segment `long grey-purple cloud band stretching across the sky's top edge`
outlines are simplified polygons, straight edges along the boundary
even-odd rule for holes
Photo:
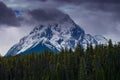
[[[81,5],[81,4],[120,4],[120,0],[3,0],[7,6],[13,9],[37,9],[42,7],[58,8],[66,5]],[[114,8],[115,9],[115,8]]]

